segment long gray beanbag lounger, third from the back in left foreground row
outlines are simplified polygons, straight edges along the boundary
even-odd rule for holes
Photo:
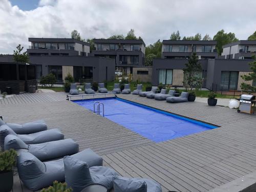
[[[7,135],[5,138],[5,150],[13,148],[18,153],[29,152],[40,161],[55,159],[66,155],[78,153],[79,146],[72,139],[50,141],[40,144],[26,144],[15,135]]]

